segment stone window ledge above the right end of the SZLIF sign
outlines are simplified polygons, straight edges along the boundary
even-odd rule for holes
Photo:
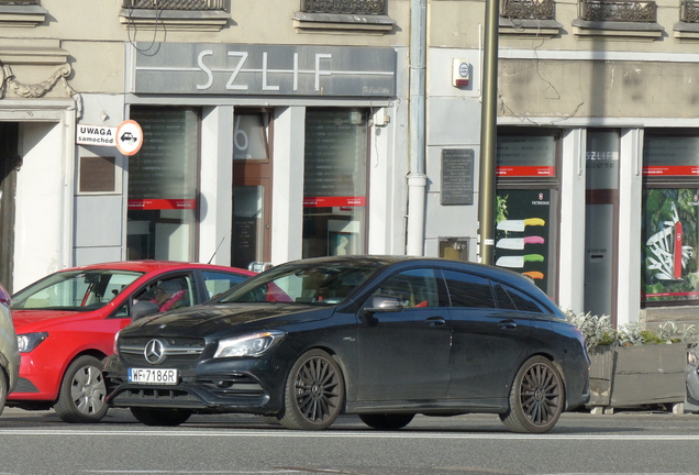
[[[387,15],[296,12],[292,19],[293,27],[302,33],[386,34],[396,25],[396,21]]]

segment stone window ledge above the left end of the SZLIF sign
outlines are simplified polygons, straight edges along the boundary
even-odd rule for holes
[[[178,31],[221,31],[228,25],[230,15],[224,11],[212,10],[143,10],[122,9],[120,21],[126,29],[136,30],[178,30]]]

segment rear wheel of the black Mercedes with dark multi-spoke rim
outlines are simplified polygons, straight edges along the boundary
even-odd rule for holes
[[[561,373],[543,357],[528,360],[514,376],[510,391],[510,409],[500,420],[513,432],[548,432],[565,407]]]

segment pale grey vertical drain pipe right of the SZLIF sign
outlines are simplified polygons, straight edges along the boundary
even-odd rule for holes
[[[426,0],[410,0],[410,173],[408,174],[408,227],[406,252],[424,255],[425,195],[425,69]]]

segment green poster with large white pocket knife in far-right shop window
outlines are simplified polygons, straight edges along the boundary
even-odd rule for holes
[[[644,300],[699,299],[699,189],[646,189],[644,202]]]

